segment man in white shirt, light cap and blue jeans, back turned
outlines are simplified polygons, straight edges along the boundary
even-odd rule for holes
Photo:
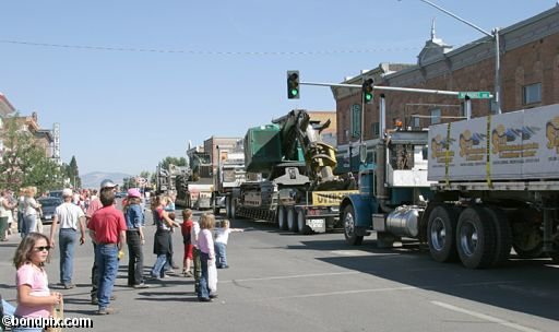
[[[55,235],[60,223],[58,246],[60,247],[60,284],[64,289],[75,287],[72,283],[74,271],[74,252],[80,227],[80,246],[85,244],[85,214],[83,210],[72,203],[72,189],[62,190],[64,202],[57,206],[52,226],[50,227],[50,245],[55,248]]]

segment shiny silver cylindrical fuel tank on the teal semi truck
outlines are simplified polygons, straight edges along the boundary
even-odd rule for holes
[[[396,208],[386,215],[386,230],[403,237],[415,238],[419,234],[419,215],[424,209],[415,205]]]

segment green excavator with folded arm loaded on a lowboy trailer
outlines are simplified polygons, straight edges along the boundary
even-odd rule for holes
[[[324,233],[338,222],[341,199],[356,192],[352,177],[334,175],[335,149],[320,139],[330,121],[302,109],[245,137],[247,180],[230,195],[230,214],[277,222],[281,229]]]

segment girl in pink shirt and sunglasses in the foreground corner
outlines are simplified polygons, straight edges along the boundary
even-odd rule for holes
[[[39,233],[29,233],[22,239],[13,264],[17,270],[17,308],[16,317],[48,318],[52,307],[60,304],[62,295],[50,293],[48,288],[47,272],[44,269],[50,250],[48,238]],[[13,331],[43,331],[37,329],[13,329]]]

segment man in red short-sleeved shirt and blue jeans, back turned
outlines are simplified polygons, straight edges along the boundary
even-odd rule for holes
[[[103,208],[95,211],[87,224],[90,236],[95,242],[95,264],[98,269],[97,315],[115,313],[109,307],[110,295],[118,272],[118,253],[127,241],[127,222],[122,211],[115,208],[115,191],[102,190],[99,195]]]

